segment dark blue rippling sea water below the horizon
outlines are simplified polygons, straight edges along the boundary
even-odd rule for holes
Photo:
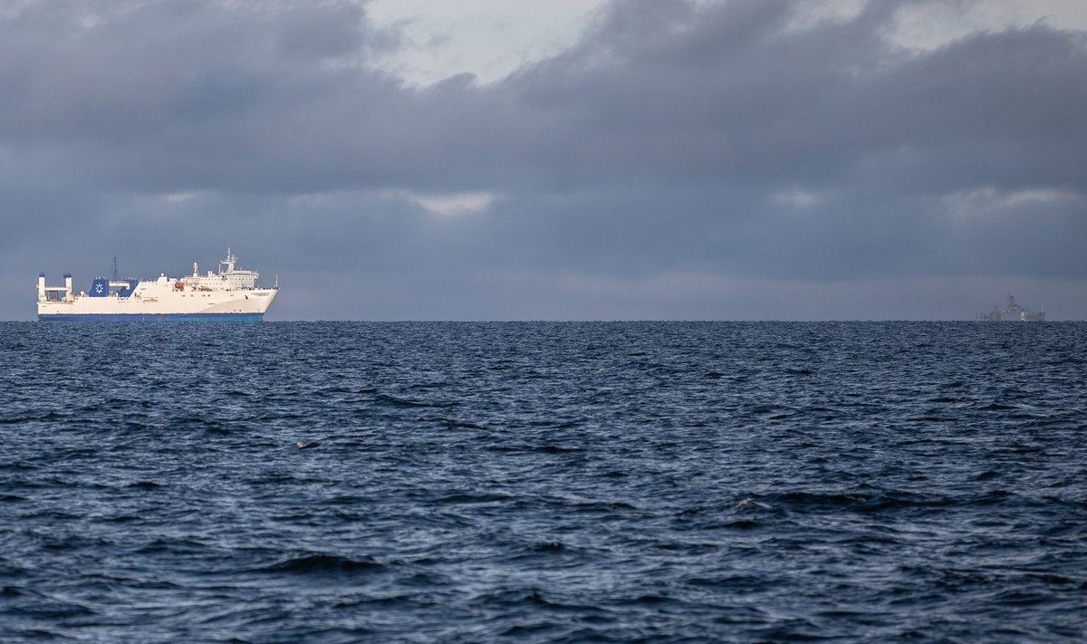
[[[1087,324],[0,324],[3,642],[1078,642]]]

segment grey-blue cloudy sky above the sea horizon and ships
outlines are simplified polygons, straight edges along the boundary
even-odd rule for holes
[[[229,246],[268,320],[1084,320],[1085,70],[1078,0],[4,0],[0,319]]]

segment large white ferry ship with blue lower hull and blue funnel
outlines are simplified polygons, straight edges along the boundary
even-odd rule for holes
[[[38,320],[234,320],[259,322],[279,292],[257,286],[257,271],[237,268],[238,258],[226,249],[218,272],[201,275],[196,262],[192,274],[153,280],[96,277],[90,292],[72,289],[72,274],[64,286],[46,286],[38,274]],[[278,281],[277,281],[278,282]]]

